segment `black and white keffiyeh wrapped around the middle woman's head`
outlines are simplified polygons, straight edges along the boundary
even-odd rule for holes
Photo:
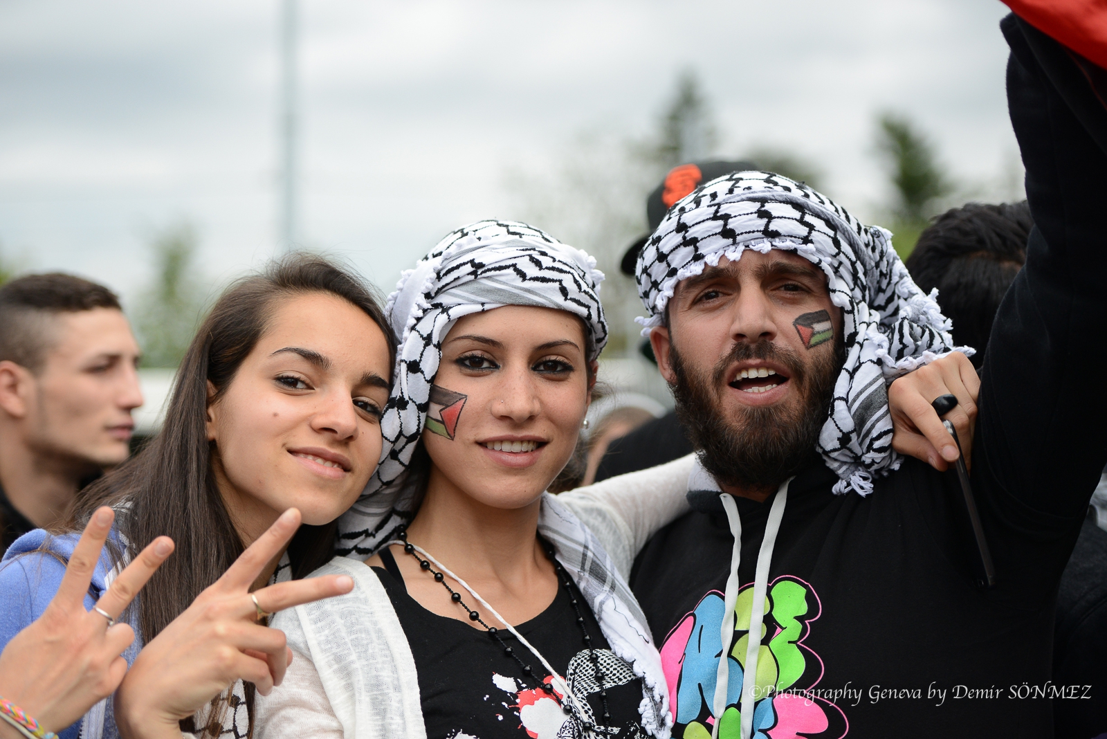
[[[400,346],[381,418],[381,464],[340,520],[340,554],[371,553],[401,522],[389,511],[410,493],[404,472],[423,434],[442,342],[454,322],[503,305],[569,311],[584,322],[591,362],[608,341],[599,298],[602,281],[593,257],[532,226],[499,220],[453,231],[403,273],[385,305]]]

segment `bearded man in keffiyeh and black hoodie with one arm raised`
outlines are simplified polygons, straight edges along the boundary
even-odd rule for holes
[[[1057,583],[1107,461],[1107,156],[1089,134],[1107,111],[1079,77],[1055,86],[1044,67],[1073,64],[1058,44],[1014,17],[1003,31],[1037,227],[979,381],[971,487],[994,583],[958,477],[891,448],[886,383],[953,346],[887,231],[745,171],[675,204],[639,257],[699,450],[693,511],[631,575],[674,737],[1044,737],[1058,690],[1107,689],[1048,684]]]

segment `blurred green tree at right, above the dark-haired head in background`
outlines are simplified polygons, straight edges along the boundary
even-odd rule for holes
[[[880,116],[877,150],[884,160],[892,190],[896,250],[906,259],[941,199],[953,192],[954,184],[939,163],[934,147],[903,115]]]

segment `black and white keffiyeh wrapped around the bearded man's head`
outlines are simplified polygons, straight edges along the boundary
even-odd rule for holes
[[[911,280],[891,233],[865,226],[830,198],[787,177],[739,171],[699,187],[673,205],[638,258],[638,292],[648,335],[662,324],[676,283],[734,261],[746,249],[795,251],[827,275],[841,309],[846,364],[818,450],[840,478],[836,493],[872,491],[872,473],[902,461],[892,450],[887,384],[952,351],[950,321]]]

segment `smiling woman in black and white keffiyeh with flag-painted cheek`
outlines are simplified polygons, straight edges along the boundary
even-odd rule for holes
[[[354,577],[346,603],[278,616],[331,710],[291,710],[304,680],[290,674],[259,708],[261,736],[668,736],[645,618],[581,507],[544,493],[607,342],[602,279],[584,252],[507,221],[454,231],[404,273],[381,465],[340,522],[340,552],[376,554],[328,565]],[[648,495],[668,501],[604,543],[637,549],[681,512],[689,468],[651,473]],[[335,665],[334,644],[358,659]]]

